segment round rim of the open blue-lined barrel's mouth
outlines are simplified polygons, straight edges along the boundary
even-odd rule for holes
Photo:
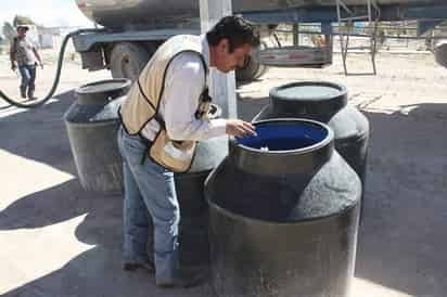
[[[238,140],[234,137],[230,138],[230,143],[232,143],[233,145],[247,151],[250,153],[261,153],[263,155],[280,155],[280,154],[306,154],[309,152],[314,152],[318,148],[322,148],[329,144],[331,144],[334,141],[334,131],[333,129],[328,126],[324,122],[321,121],[317,121],[317,120],[312,120],[312,119],[307,119],[307,118],[289,118],[289,117],[284,117],[284,118],[274,118],[274,119],[261,119],[261,120],[255,120],[252,124],[254,126],[258,125],[258,124],[264,124],[264,122],[280,122],[280,121],[288,121],[288,122],[307,122],[307,124],[312,124],[312,125],[317,125],[320,126],[322,128],[324,128],[328,131],[328,134],[319,142],[306,146],[306,147],[301,147],[301,148],[296,148],[296,150],[283,150],[283,151],[261,151],[259,148],[254,148],[244,144],[241,144],[238,142]]]

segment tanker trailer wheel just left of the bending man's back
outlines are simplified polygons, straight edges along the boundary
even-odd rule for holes
[[[148,61],[149,53],[142,46],[130,42],[118,43],[111,54],[112,77],[136,81]]]

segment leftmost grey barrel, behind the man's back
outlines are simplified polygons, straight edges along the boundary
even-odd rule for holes
[[[111,79],[75,90],[77,101],[64,119],[85,190],[111,193],[123,190],[123,163],[116,142],[117,111],[130,85],[128,79]]]

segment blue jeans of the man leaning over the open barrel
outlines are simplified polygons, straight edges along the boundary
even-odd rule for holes
[[[127,134],[123,127],[118,131],[118,146],[125,184],[124,259],[138,261],[148,258],[148,223],[152,218],[155,277],[157,282],[170,282],[179,269],[180,209],[174,173],[149,158],[141,164],[146,147],[138,135]]]

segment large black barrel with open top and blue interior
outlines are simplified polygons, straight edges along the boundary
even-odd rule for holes
[[[348,295],[361,182],[328,126],[265,120],[205,183],[218,296]]]

